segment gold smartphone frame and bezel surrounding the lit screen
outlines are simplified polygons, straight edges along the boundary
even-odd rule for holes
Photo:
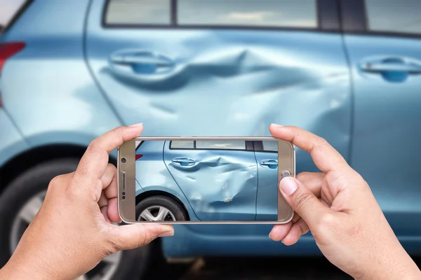
[[[204,140],[204,141],[278,141],[278,182],[282,178],[282,172],[290,172],[290,176],[295,177],[295,147],[289,141],[283,141],[274,137],[136,137],[135,139],[126,141],[118,148],[117,151],[117,188],[118,198],[117,204],[119,208],[119,216],[124,223],[159,223],[159,224],[284,224],[292,220],[294,211],[284,200],[281,192],[278,191],[278,221],[136,221],[135,220],[135,141],[183,141],[183,140]],[[288,150],[283,154],[279,151]],[[286,160],[285,156],[288,153],[289,158]],[[281,158],[281,156],[283,158]],[[122,163],[121,158],[126,158],[126,162]],[[292,164],[292,165],[291,165]],[[283,166],[284,168],[279,168]],[[123,181],[125,186],[123,190]],[[123,191],[126,194],[126,199],[122,199]]]

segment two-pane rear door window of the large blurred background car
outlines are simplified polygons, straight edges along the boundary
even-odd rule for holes
[[[175,25],[317,27],[316,0],[178,0]],[[105,25],[171,25],[171,0],[109,0]]]

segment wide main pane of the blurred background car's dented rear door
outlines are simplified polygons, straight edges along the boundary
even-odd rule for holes
[[[178,25],[317,27],[316,0],[178,0]]]

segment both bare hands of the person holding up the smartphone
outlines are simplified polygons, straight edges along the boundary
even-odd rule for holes
[[[142,128],[107,132],[89,145],[76,172],[51,181],[0,279],[74,279],[111,253],[173,235],[171,225],[113,224],[121,220],[109,152]],[[421,279],[368,184],[338,151],[298,127],[271,125],[270,132],[309,152],[321,170],[281,180],[280,191],[295,215],[292,222],[275,225],[270,238],[292,245],[310,230],[323,255],[355,279]]]

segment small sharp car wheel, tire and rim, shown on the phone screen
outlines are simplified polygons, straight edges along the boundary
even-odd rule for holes
[[[136,205],[138,221],[188,221],[182,205],[163,195],[147,197]]]

